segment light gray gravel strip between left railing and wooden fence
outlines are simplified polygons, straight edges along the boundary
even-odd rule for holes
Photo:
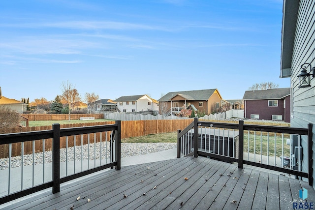
[[[107,145],[106,145],[107,144]],[[159,152],[163,150],[170,150],[177,147],[177,143],[122,143],[121,144],[121,157],[129,157],[129,156],[137,156],[143,154],[149,154],[154,152]],[[102,152],[100,152],[100,149]],[[106,153],[107,151],[107,153]],[[87,160],[90,156],[90,160],[94,160],[94,154],[96,159],[99,159],[100,154],[102,155],[102,159],[110,157],[110,143],[109,142],[102,142],[102,146],[100,147],[99,143],[76,146],[75,151],[74,147],[68,148],[67,152],[66,149],[60,150],[60,161],[65,162],[66,160],[66,153],[68,161],[81,160],[81,153],[83,152],[83,160]],[[52,151],[45,151],[45,163],[52,162]],[[32,154],[26,154],[23,156],[24,165],[32,165],[33,164],[33,156]],[[15,156],[11,158],[11,167],[20,167],[22,163],[21,156]],[[37,152],[34,154],[34,163],[35,164],[42,164],[43,163],[43,152]],[[0,159],[0,170],[9,168],[9,158],[1,158]]]

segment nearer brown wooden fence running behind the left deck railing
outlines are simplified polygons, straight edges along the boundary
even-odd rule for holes
[[[178,129],[184,129],[187,127],[193,119],[189,120],[137,120],[137,121],[122,121],[121,122],[121,138],[129,138],[135,136],[144,136],[148,134],[156,133],[166,133],[175,132]],[[104,121],[104,122],[91,122],[91,123],[75,123],[75,124],[62,124],[61,128],[70,127],[83,127],[83,126],[97,126],[104,124],[114,124],[115,121]],[[30,131],[40,131],[40,130],[51,130],[50,126],[37,126],[37,127],[18,127],[12,129],[0,129],[0,134],[2,133],[20,133],[20,132],[30,132]],[[106,135],[107,133],[107,135]],[[88,138],[90,135],[90,138]],[[84,134],[82,135],[83,145],[88,144],[88,139],[90,143],[100,142],[100,136],[103,141],[110,140],[110,132],[102,132],[95,134]],[[107,136],[107,139],[105,139]],[[81,145],[81,135],[75,136],[76,145]],[[73,147],[74,136],[68,137],[68,147]],[[66,147],[66,137],[60,138],[60,148]],[[43,141],[36,140],[34,145],[35,152],[43,151]],[[52,150],[52,139],[45,140],[45,150]],[[24,154],[32,154],[32,142],[24,143]],[[12,156],[21,155],[21,143],[12,144]],[[9,145],[0,145],[0,158],[9,156]]]

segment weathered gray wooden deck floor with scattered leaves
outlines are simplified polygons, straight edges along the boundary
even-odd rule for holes
[[[306,201],[299,198],[302,187],[308,189]],[[5,209],[293,209],[293,202],[315,202],[314,189],[286,176],[184,157],[90,175],[62,185],[59,193],[44,192]]]

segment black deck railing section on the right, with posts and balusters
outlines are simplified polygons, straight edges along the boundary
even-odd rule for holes
[[[308,128],[198,121],[178,130],[177,157],[209,156],[308,178],[313,184],[312,124]],[[195,129],[196,128],[196,129]],[[303,158],[302,138],[305,136]],[[198,150],[194,150],[198,148]],[[308,172],[301,171],[301,161]]]

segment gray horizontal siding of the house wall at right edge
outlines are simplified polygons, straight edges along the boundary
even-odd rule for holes
[[[285,3],[290,3],[285,0]],[[287,14],[288,15],[288,14]],[[286,20],[284,16],[284,21]],[[283,25],[284,27],[284,25]],[[283,36],[285,36],[283,28]],[[285,45],[285,43],[282,43]],[[282,57],[282,60],[286,58]],[[313,159],[315,158],[315,78],[311,77],[311,87],[298,88],[297,75],[301,72],[303,63],[311,63],[315,66],[315,0],[300,0],[295,38],[293,43],[293,56],[291,60],[291,97],[292,113],[291,126],[307,128],[309,123],[313,123]],[[308,153],[307,137],[302,136],[303,150],[302,171],[307,172]],[[313,162],[313,169],[315,161]],[[315,173],[313,173],[315,179]],[[315,182],[313,183],[315,188]]]

